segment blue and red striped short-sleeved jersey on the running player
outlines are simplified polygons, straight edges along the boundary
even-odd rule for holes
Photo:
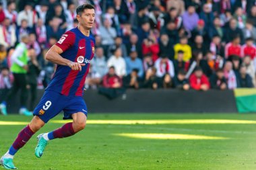
[[[78,28],[65,32],[55,44],[63,50],[61,56],[73,62],[85,63],[82,71],[73,71],[70,67],[57,65],[55,74],[46,90],[56,91],[67,96],[82,96],[84,83],[94,57],[95,39],[85,36]]]

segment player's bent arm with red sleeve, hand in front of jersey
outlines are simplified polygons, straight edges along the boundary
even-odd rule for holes
[[[57,65],[64,65],[70,67],[72,70],[82,71],[82,67],[85,64],[80,64],[78,62],[73,62],[71,60],[67,60],[63,58],[60,54],[65,50],[73,46],[75,42],[75,36],[72,32],[66,32],[61,36],[61,39],[57,42],[57,44],[53,45],[50,50],[46,53],[45,58]]]

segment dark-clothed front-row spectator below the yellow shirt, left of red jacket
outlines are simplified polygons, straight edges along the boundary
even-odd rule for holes
[[[183,89],[185,91],[189,90],[189,80],[186,79],[186,72],[183,69],[179,70],[177,75],[174,77],[173,86],[176,89]]]

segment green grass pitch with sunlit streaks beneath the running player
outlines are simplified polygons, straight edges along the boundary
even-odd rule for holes
[[[36,136],[61,126],[57,116],[15,155],[15,166],[20,170],[256,169],[256,114],[90,114],[89,118],[85,130],[51,140],[37,159]],[[0,116],[1,155],[30,119]]]

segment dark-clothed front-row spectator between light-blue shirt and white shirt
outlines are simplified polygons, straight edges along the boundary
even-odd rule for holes
[[[156,76],[156,68],[152,67],[146,72],[143,87],[151,89],[159,89],[161,87],[161,79]]]

